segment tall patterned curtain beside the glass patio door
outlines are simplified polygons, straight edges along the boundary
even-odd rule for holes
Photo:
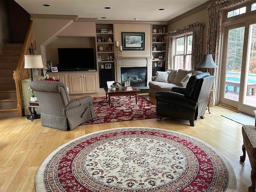
[[[221,11],[228,6],[232,6],[246,0],[217,0],[216,2],[208,5],[208,27],[206,37],[206,50],[212,54],[215,64],[219,65],[219,44],[220,44],[220,26],[221,26]],[[218,74],[218,68],[209,68],[209,73],[212,75]],[[217,76],[214,80],[214,90],[216,90]],[[216,92],[213,93],[213,104],[215,104]]]

